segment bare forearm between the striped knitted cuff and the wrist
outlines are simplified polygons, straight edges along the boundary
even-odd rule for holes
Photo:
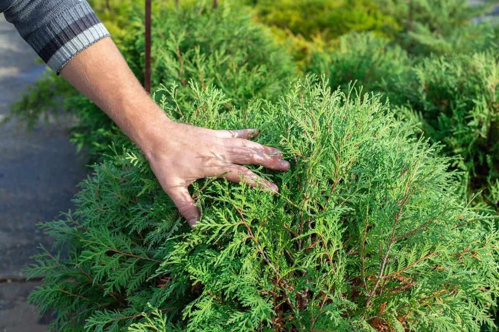
[[[150,155],[155,124],[169,119],[142,88],[111,38],[78,53],[60,74]]]

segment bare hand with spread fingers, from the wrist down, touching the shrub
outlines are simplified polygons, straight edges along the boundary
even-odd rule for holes
[[[289,163],[274,148],[249,141],[254,129],[211,130],[165,119],[154,125],[155,133],[144,149],[151,169],[165,192],[191,227],[200,215],[188,186],[200,178],[219,176],[276,193],[275,184],[242,165],[261,165],[287,170]],[[256,134],[256,133],[255,133]]]

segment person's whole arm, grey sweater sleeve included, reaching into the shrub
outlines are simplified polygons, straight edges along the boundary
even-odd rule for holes
[[[191,225],[199,211],[187,187],[198,178],[228,172],[226,178],[239,182],[243,173],[247,183],[277,190],[241,166],[287,169],[281,156],[268,156],[278,153],[275,149],[246,140],[250,129],[213,131],[170,121],[106,37],[107,30],[86,1],[0,0],[0,10],[55,73],[60,71],[137,144]]]

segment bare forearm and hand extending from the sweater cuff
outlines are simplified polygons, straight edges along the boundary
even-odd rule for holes
[[[144,152],[163,189],[191,226],[199,211],[187,188],[197,179],[227,172],[223,177],[230,181],[240,182],[242,175],[251,186],[276,192],[275,184],[242,165],[289,168],[288,162],[280,160],[280,151],[247,140],[252,129],[211,130],[168,119],[144,91],[111,38],[78,53],[60,74],[106,112]]]

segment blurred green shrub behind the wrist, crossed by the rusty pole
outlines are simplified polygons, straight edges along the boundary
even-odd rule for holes
[[[204,88],[214,84],[232,99],[231,108],[245,107],[253,98],[275,100],[284,82],[296,76],[289,55],[280,52],[268,29],[254,23],[246,9],[227,5],[213,10],[207,2],[155,16],[153,86],[176,81],[188,89],[190,79]],[[143,68],[143,25],[133,26],[128,58]]]

